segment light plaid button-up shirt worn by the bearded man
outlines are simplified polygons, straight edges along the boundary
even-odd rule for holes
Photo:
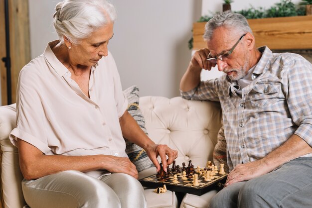
[[[259,50],[262,57],[242,96],[226,75],[181,92],[188,100],[220,102],[230,170],[265,157],[293,134],[312,146],[312,64],[298,54]]]

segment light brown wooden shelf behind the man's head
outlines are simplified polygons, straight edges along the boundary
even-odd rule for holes
[[[312,49],[312,15],[248,19],[256,46],[270,49]],[[193,24],[193,49],[207,47],[202,36],[206,22]]]

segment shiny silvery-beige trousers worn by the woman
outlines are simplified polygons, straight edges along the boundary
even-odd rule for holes
[[[146,208],[144,189],[130,175],[113,173],[100,180],[79,171],[64,171],[23,180],[30,208]]]

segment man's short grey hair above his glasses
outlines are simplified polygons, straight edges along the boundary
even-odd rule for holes
[[[230,29],[234,34],[240,33],[240,35],[242,35],[247,32],[252,33],[247,19],[243,15],[231,11],[225,11],[215,14],[206,23],[203,38],[205,40],[210,40],[214,30],[221,26]]]

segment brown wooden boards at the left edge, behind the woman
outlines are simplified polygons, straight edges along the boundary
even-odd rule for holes
[[[9,0],[9,36],[11,58],[11,91],[12,103],[16,100],[16,86],[20,70],[30,61],[30,36],[28,0]],[[4,32],[4,2],[0,0],[0,41],[5,46]],[[3,12],[1,12],[3,9]],[[3,17],[2,17],[3,16]],[[3,24],[2,24],[3,22]],[[4,53],[3,53],[3,51]],[[0,47],[0,57],[5,57],[5,47]],[[6,68],[0,64],[1,73],[1,100],[2,105],[7,104],[6,95]]]

